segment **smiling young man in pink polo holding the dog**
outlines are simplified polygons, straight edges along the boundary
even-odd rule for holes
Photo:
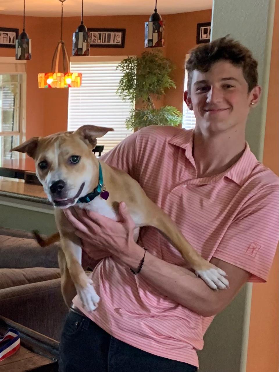
[[[84,250],[103,257],[92,274],[101,301],[86,312],[74,299],[61,337],[60,371],[197,371],[196,350],[215,314],[247,281],[265,282],[278,243],[279,181],[245,142],[260,97],[257,62],[228,38],[204,44],[187,62],[185,102],[194,130],[140,129],[103,156],[129,173],[202,256],[227,273],[213,291],[186,269],[152,227],[133,241],[133,221],[65,210]],[[143,249],[147,248],[145,250]],[[136,270],[145,253],[139,275]]]

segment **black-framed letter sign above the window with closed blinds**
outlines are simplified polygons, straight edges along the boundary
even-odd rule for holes
[[[93,48],[124,48],[125,46],[125,35],[126,35],[125,28],[88,28],[87,31],[90,33],[90,47],[93,47]],[[93,33],[95,35],[93,35]],[[120,36],[120,39],[119,39],[119,36]],[[114,38],[113,39],[114,42],[112,43],[108,42],[108,38],[110,38],[109,41],[111,41],[112,38]]]

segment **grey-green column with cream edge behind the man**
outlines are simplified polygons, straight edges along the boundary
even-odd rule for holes
[[[251,110],[246,140],[262,161],[275,0],[213,0],[211,39],[230,34],[258,61],[260,104]],[[252,284],[215,317],[199,352],[199,372],[246,372]]]

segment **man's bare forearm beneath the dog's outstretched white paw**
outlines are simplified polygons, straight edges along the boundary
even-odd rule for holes
[[[143,249],[136,245],[134,252],[137,253],[133,259],[127,258],[125,263],[136,268],[142,259]],[[139,275],[173,301],[199,315],[210,317],[222,311],[250,277],[247,271],[222,260],[213,257],[210,262],[227,273],[229,289],[214,291],[190,270],[165,262],[148,251]]]

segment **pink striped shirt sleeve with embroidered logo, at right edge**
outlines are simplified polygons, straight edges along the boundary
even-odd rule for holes
[[[228,227],[213,257],[251,273],[249,282],[266,282],[279,239],[279,187],[252,196]]]

